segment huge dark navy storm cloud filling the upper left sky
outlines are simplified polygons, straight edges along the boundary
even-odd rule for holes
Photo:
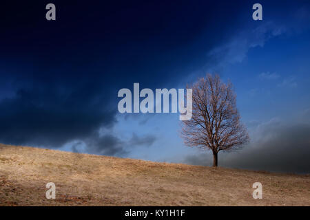
[[[0,5],[0,142],[50,148],[81,142],[109,155],[125,152],[116,134],[99,135],[116,122],[118,89],[134,82],[165,87],[196,68],[192,63],[204,63],[205,50],[224,32],[218,23],[227,22],[216,10],[238,11],[209,2],[55,1],[56,21],[49,22],[46,3]],[[198,37],[206,28],[214,33],[208,41]]]

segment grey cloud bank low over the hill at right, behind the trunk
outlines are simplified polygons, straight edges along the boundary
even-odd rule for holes
[[[251,135],[254,139],[240,151],[220,152],[219,166],[310,173],[310,124],[285,124],[277,120],[260,124]],[[190,155],[185,162],[211,166],[211,154]]]

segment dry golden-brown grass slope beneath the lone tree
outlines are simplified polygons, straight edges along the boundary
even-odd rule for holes
[[[262,199],[252,184],[262,183]],[[56,184],[56,199],[45,185]],[[0,144],[1,206],[310,206],[310,176]]]

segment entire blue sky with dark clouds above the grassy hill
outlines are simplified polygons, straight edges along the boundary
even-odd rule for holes
[[[56,21],[45,5],[56,5]],[[309,173],[310,3],[0,3],[0,142],[211,165],[177,113],[118,113],[119,89],[231,80],[251,142],[219,166]]]

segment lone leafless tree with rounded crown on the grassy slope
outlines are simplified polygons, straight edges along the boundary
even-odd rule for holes
[[[219,151],[230,151],[249,141],[247,129],[240,122],[236,94],[231,83],[225,84],[220,76],[211,74],[190,88],[192,119],[182,122],[181,136],[187,146],[211,149],[213,166],[218,166]]]

